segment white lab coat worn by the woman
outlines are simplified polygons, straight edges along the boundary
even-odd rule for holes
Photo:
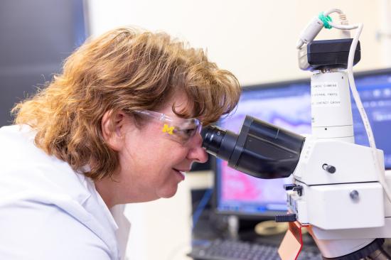
[[[0,259],[124,259],[129,222],[90,178],[33,144],[29,126],[0,129]]]

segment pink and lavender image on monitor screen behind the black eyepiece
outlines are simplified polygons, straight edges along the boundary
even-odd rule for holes
[[[289,97],[259,99],[252,92],[242,96],[237,111],[220,121],[220,126],[240,133],[246,115],[267,121],[298,134],[311,133],[311,109],[309,93]],[[289,109],[287,109],[289,108]],[[255,178],[227,166],[226,161],[220,164],[220,199],[221,202],[240,202],[255,205],[285,204],[286,192],[283,185],[291,180]]]

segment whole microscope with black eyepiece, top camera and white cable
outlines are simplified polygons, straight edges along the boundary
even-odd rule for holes
[[[333,23],[338,13],[341,24]],[[314,40],[323,27],[343,38]],[[349,25],[339,9],[322,12],[301,33],[299,67],[311,76],[312,134],[301,136],[247,116],[240,134],[210,126],[203,147],[228,166],[257,178],[286,178],[289,222],[279,255],[296,259],[301,228],[307,227],[323,259],[391,259],[382,249],[391,237],[391,175],[376,148],[368,117],[355,89],[353,65],[360,60],[362,24]],[[349,30],[355,30],[350,38]],[[354,142],[350,91],[365,125],[370,147]],[[292,239],[293,238],[293,239]],[[291,249],[292,240],[299,246]]]

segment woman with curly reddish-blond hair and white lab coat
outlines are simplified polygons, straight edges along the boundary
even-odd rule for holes
[[[124,259],[125,203],[171,197],[236,78],[165,33],[82,45],[0,129],[0,259]]]

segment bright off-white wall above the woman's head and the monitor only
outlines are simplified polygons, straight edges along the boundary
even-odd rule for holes
[[[309,19],[332,7],[352,23],[363,22],[362,60],[357,70],[384,67],[375,38],[387,0],[91,0],[94,35],[110,28],[136,25],[166,31],[208,49],[210,60],[237,75],[242,85],[308,77],[297,67],[296,40]],[[320,38],[333,33],[323,30]]]

